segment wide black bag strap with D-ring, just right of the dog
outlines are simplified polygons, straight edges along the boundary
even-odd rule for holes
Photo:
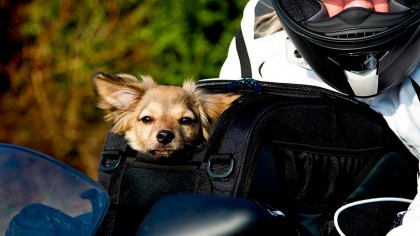
[[[255,152],[260,151],[258,147],[265,140],[263,133],[256,130],[275,105],[273,100],[244,98],[219,119],[202,167],[213,179],[215,193],[248,195],[258,156]]]

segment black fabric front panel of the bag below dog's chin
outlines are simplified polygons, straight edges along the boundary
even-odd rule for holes
[[[110,209],[97,235],[134,235],[151,206],[163,196],[211,192],[209,177],[197,169],[197,164],[148,163],[143,154],[133,153],[136,155],[125,157],[111,173],[100,173]]]

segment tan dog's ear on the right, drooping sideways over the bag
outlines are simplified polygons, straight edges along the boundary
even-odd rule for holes
[[[192,80],[184,81],[183,89],[196,100],[200,112],[199,119],[203,128],[203,136],[206,140],[209,139],[211,129],[219,116],[240,97],[240,95],[234,93],[206,93],[198,89]]]

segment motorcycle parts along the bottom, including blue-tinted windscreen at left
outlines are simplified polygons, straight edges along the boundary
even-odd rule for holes
[[[377,198],[343,206],[334,217],[337,233],[382,235],[398,225],[397,213],[410,203]],[[380,210],[384,205],[388,212]],[[0,235],[97,235],[109,206],[107,191],[83,173],[43,153],[0,143]],[[357,217],[366,209],[369,219]],[[384,228],[381,222],[393,218],[394,226]],[[135,235],[294,235],[288,224],[283,212],[250,199],[174,194],[153,204]],[[354,231],[355,225],[361,229]]]

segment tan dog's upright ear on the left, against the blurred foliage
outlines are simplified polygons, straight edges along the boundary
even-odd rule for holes
[[[154,80],[148,76],[142,77],[141,82],[128,74],[110,75],[97,72],[92,78],[98,95],[98,107],[105,111],[106,120],[115,122],[127,119],[127,114],[133,111],[144,93],[156,86]]]

